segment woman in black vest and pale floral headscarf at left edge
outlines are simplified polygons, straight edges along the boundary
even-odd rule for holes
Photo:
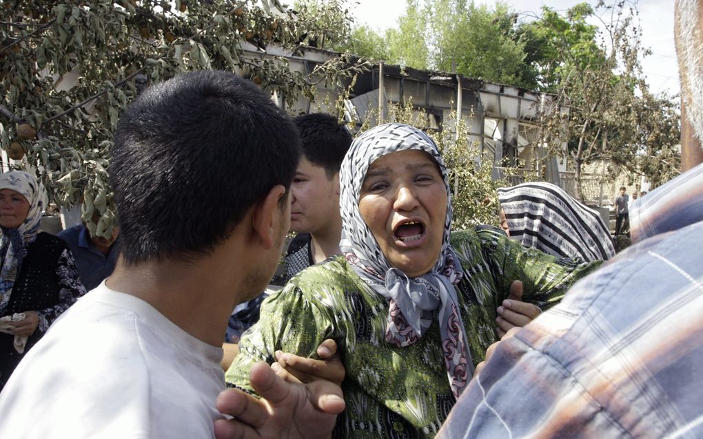
[[[24,353],[86,292],[67,244],[39,230],[43,209],[33,176],[0,174],[0,390]]]

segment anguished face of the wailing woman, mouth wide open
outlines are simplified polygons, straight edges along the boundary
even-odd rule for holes
[[[391,266],[418,277],[437,263],[447,195],[434,159],[423,151],[376,159],[361,185],[359,211]]]

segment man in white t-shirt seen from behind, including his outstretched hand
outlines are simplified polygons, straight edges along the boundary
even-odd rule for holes
[[[0,437],[211,438],[222,334],[278,263],[297,143],[288,117],[235,74],[191,72],[141,94],[110,164],[120,261],[15,370]],[[236,395],[245,409],[227,426],[242,435],[252,424],[308,437],[344,407],[333,384],[288,384],[266,364],[251,382],[271,400]]]

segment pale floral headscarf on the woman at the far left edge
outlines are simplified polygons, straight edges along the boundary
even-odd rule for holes
[[[27,255],[27,246],[39,235],[41,213],[44,211],[44,191],[37,179],[22,171],[0,174],[0,190],[11,189],[20,192],[30,203],[27,218],[18,228],[0,227],[0,315],[4,315],[15,278],[20,273],[22,260]]]

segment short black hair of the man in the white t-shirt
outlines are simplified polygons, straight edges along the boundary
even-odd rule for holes
[[[290,188],[298,155],[290,119],[236,74],[190,72],[150,87],[112,147],[122,256],[208,254],[274,185]]]

